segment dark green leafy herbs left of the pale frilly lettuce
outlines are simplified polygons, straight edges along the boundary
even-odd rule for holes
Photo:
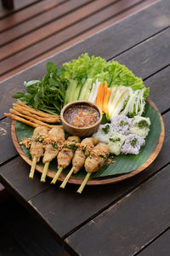
[[[65,101],[66,90],[65,79],[61,79],[60,75],[65,71],[65,68],[56,68],[53,62],[48,62],[47,71],[48,73],[42,81],[25,82],[26,93],[17,92],[13,97],[33,108],[48,113],[60,113]]]

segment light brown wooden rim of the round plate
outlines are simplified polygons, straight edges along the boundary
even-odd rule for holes
[[[151,102],[150,99],[148,99],[147,102],[149,102],[150,105],[152,105],[154,108],[156,108],[156,105],[153,102]],[[156,108],[156,111],[159,113],[159,116],[160,116],[160,119],[161,119],[161,133],[160,133],[160,136],[159,136],[158,141],[156,143],[156,147],[154,148],[152,154],[150,154],[150,157],[148,158],[148,160],[146,160],[142,166],[139,166],[139,168],[134,170],[133,172],[129,172],[127,174],[123,174],[123,175],[118,176],[118,177],[106,177],[106,178],[103,177],[101,180],[95,180],[95,179],[92,178],[92,179],[88,180],[88,183],[87,183],[88,185],[99,185],[99,184],[120,182],[124,179],[127,179],[129,177],[133,177],[134,175],[137,175],[139,172],[142,172],[147,166],[150,166],[150,164],[156,159],[156,156],[159,154],[159,152],[161,150],[161,147],[162,147],[162,144],[163,144],[164,136],[165,136],[164,124],[163,124],[163,119],[161,117],[161,113],[159,112],[159,110],[157,108]],[[14,147],[16,148],[16,150],[18,151],[20,156],[26,161],[26,163],[28,163],[31,166],[32,161],[26,156],[26,154],[24,153],[24,151],[20,147],[20,143],[19,143],[18,138],[16,136],[15,125],[14,124],[15,124],[15,121],[13,121],[12,126],[11,126],[11,135],[12,135]],[[37,165],[36,170],[38,172],[42,173],[43,166]],[[47,176],[53,178],[55,173],[56,172],[48,169]],[[63,181],[64,179],[65,179],[65,174],[61,173],[60,176],[59,176],[59,181]],[[71,177],[69,179],[68,183],[81,184],[82,179],[77,178],[77,177]]]

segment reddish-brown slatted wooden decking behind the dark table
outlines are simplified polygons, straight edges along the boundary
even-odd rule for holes
[[[26,0],[22,3],[17,0],[14,9],[8,12],[0,6],[0,58],[3,64],[0,79],[8,78],[156,1]]]

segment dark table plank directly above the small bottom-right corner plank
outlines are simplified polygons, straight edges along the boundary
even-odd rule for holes
[[[65,241],[80,255],[138,253],[170,225],[169,169],[161,170]]]

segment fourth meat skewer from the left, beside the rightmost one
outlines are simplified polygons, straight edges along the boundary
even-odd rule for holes
[[[61,183],[60,188],[65,189],[65,185],[71,177],[72,172],[77,173],[82,169],[86,157],[88,157],[88,154],[90,154],[89,150],[94,148],[97,143],[98,139],[95,137],[86,137],[82,140],[80,148],[77,148],[73,156],[71,171],[67,174],[63,183]]]

